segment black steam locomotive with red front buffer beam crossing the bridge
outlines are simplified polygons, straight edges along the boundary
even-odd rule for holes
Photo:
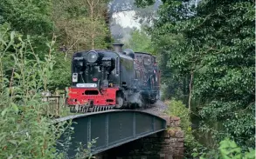
[[[67,104],[72,112],[134,109],[159,98],[160,70],[156,57],[122,50],[89,50],[74,53],[72,86]]]

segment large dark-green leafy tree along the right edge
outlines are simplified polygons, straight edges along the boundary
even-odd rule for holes
[[[190,36],[200,39],[200,43],[191,39],[190,46],[196,44],[201,48],[192,54],[197,58],[193,64],[198,73],[194,96],[209,100],[204,100],[206,105],[200,111],[208,127],[215,122],[223,124],[223,129],[216,135],[218,141],[231,136],[243,149],[253,148],[255,45],[250,28],[254,23],[254,4],[250,1],[229,2],[202,3],[197,10],[200,14],[208,13],[208,17],[198,17],[197,21],[203,23],[200,30],[195,28],[190,32]],[[214,6],[211,12],[204,10],[210,5]],[[191,24],[197,26],[199,22]],[[197,35],[193,35],[195,31]],[[239,34],[236,33],[238,31]]]

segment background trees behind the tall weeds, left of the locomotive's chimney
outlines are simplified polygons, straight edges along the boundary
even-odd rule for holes
[[[0,23],[9,23],[9,30],[30,35],[30,44],[39,60],[45,60],[49,46],[45,41],[53,39],[56,56],[47,89],[65,89],[70,85],[70,59],[73,51],[107,49],[112,39],[107,27],[107,0],[3,0],[0,3]],[[90,5],[93,4],[93,5]],[[6,37],[9,38],[9,37]],[[49,43],[51,45],[51,43]],[[66,44],[66,51],[59,46]],[[28,48],[30,49],[30,48]],[[9,48],[10,53],[14,50]],[[33,55],[26,55],[33,58]],[[11,75],[13,60],[4,56],[4,70]],[[48,75],[44,75],[48,76]]]

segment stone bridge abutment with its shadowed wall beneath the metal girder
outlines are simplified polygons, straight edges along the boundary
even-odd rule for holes
[[[168,129],[145,136],[134,142],[108,149],[97,159],[182,159],[184,134],[180,129],[180,118],[162,116],[167,121]]]

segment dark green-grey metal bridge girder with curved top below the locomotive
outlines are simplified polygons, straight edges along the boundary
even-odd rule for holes
[[[68,156],[75,155],[79,142],[87,148],[87,143],[96,139],[91,148],[92,154],[117,147],[166,129],[166,121],[149,113],[136,110],[108,110],[85,115],[66,116],[57,122],[73,120],[72,135]],[[61,137],[64,139],[64,136]],[[65,143],[65,142],[62,142]]]

